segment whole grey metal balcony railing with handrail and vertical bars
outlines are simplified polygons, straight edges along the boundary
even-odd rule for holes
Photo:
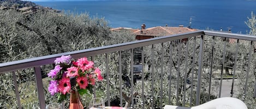
[[[198,37],[198,38],[196,38]],[[144,63],[145,63],[145,52],[144,52],[144,47],[145,46],[151,46],[152,47],[152,51],[154,52],[155,51],[155,44],[161,44],[161,49],[160,49],[160,62],[161,62],[161,66],[160,66],[160,82],[162,83],[160,85],[160,108],[163,107],[162,103],[163,103],[163,74],[164,74],[164,51],[166,49],[164,49],[164,44],[163,43],[166,43],[166,42],[170,42],[170,43],[177,43],[177,46],[170,46],[168,49],[169,51],[169,62],[168,63],[168,66],[170,68],[169,70],[169,77],[171,78],[171,75],[173,75],[173,71],[171,70],[173,67],[177,67],[177,70],[175,71],[177,73],[177,78],[176,78],[176,105],[179,105],[179,102],[178,102],[178,99],[180,99],[178,93],[181,92],[180,88],[180,84],[183,84],[183,86],[185,87],[183,89],[183,98],[186,98],[186,80],[188,78],[188,76],[183,76],[183,77],[180,77],[181,75],[181,55],[182,55],[182,49],[181,49],[181,40],[182,39],[191,39],[191,40],[194,40],[194,43],[193,43],[193,54],[190,53],[190,55],[192,55],[191,57],[193,57],[193,59],[191,60],[192,63],[192,75],[191,77],[189,78],[192,78],[191,79],[191,82],[192,82],[192,86],[191,86],[191,90],[190,90],[190,94],[193,93],[194,91],[194,86],[193,85],[193,82],[194,82],[194,79],[197,79],[197,85],[196,85],[196,102],[195,102],[195,105],[199,105],[200,104],[200,89],[201,89],[201,79],[202,79],[202,72],[203,72],[203,67],[204,67],[204,62],[203,62],[203,59],[204,58],[207,58],[207,57],[204,57],[204,44],[206,43],[205,41],[205,37],[213,37],[213,41],[216,40],[216,37],[224,37],[225,40],[227,38],[231,38],[231,39],[237,39],[237,45],[236,45],[236,54],[235,54],[235,63],[234,63],[234,67],[233,67],[233,74],[235,75],[236,73],[236,67],[237,67],[237,50],[239,50],[239,40],[247,40],[247,41],[251,41],[251,44],[250,44],[250,48],[249,48],[249,58],[248,58],[248,67],[247,67],[247,70],[246,70],[246,83],[245,83],[245,92],[243,93],[243,97],[245,98],[246,97],[246,89],[247,89],[247,81],[248,81],[248,73],[249,73],[249,69],[250,69],[250,65],[251,64],[254,64],[254,63],[251,63],[252,62],[252,55],[253,55],[253,43],[256,41],[256,36],[251,36],[251,35],[244,35],[244,34],[232,34],[232,33],[222,33],[222,32],[219,32],[219,31],[206,31],[206,30],[200,30],[200,31],[195,31],[195,32],[191,32],[191,33],[185,33],[185,34],[177,34],[177,35],[170,35],[170,36],[163,36],[163,37],[156,37],[154,39],[147,39],[147,40],[139,40],[139,41],[133,41],[133,42],[127,42],[127,43],[120,43],[120,44],[114,44],[114,45],[111,45],[111,46],[104,46],[104,47],[98,47],[98,48],[91,48],[91,49],[85,49],[85,50],[79,50],[79,51],[74,51],[74,52],[67,52],[67,53],[60,53],[60,54],[54,54],[54,55],[47,55],[47,56],[41,56],[41,57],[35,57],[35,58],[32,58],[32,59],[26,59],[26,60],[19,60],[19,61],[13,61],[13,62],[6,62],[6,63],[0,63],[0,74],[4,74],[4,73],[8,73],[8,72],[13,72],[13,79],[14,79],[14,86],[15,86],[15,92],[16,92],[16,99],[17,99],[17,104],[19,106],[19,108],[21,108],[21,102],[20,102],[20,95],[19,95],[19,91],[18,88],[17,88],[17,82],[15,81],[16,80],[16,76],[15,76],[15,71],[16,70],[19,70],[19,69],[26,69],[26,68],[34,68],[34,73],[35,73],[35,80],[36,80],[36,83],[37,83],[37,91],[38,91],[38,99],[39,99],[39,105],[40,105],[40,108],[45,108],[45,95],[44,95],[44,88],[43,88],[43,82],[42,82],[42,75],[41,75],[41,68],[40,66],[44,66],[44,65],[50,65],[53,63],[53,61],[56,59],[56,57],[60,57],[62,55],[71,55],[74,59],[78,59],[80,57],[84,57],[84,56],[96,56],[96,55],[99,55],[99,54],[105,54],[106,56],[106,69],[105,69],[105,73],[106,73],[106,82],[107,82],[107,99],[108,99],[108,105],[110,105],[110,91],[109,91],[109,87],[110,87],[110,83],[109,83],[109,59],[108,59],[108,54],[109,53],[112,53],[112,52],[118,52],[119,54],[119,57],[118,57],[118,66],[119,66],[119,74],[120,74],[120,80],[122,79],[121,78],[121,75],[122,75],[122,55],[121,55],[121,52],[122,50],[130,50],[130,53],[131,53],[131,56],[130,56],[130,60],[133,60],[133,49],[134,48],[138,48],[140,47],[141,48],[141,63],[142,63],[142,77],[145,76],[145,68],[144,68]],[[195,60],[197,58],[194,58],[194,56],[196,55],[196,43],[195,43],[195,40],[196,39],[200,39],[200,42],[199,42],[199,53],[198,53],[198,61]],[[220,77],[220,81],[221,81],[221,84],[219,86],[219,96],[218,97],[221,97],[221,91],[222,91],[222,80],[223,80],[223,69],[224,69],[224,65],[225,65],[225,50],[226,50],[226,43],[227,41],[224,41],[224,48],[223,48],[223,57],[222,57],[222,68],[221,68],[221,77]],[[184,72],[188,72],[188,46],[189,46],[189,43],[185,43],[186,46],[186,52],[184,53],[186,57],[184,59]],[[173,44],[171,44],[173,45]],[[212,74],[213,74],[213,62],[215,61],[215,59],[213,58],[213,54],[215,54],[214,50],[215,49],[215,44],[213,42],[212,44],[212,52],[211,52],[211,62],[210,62],[210,87],[209,87],[209,100],[210,100],[210,91],[211,91],[211,78],[212,78]],[[177,63],[173,63],[173,58],[174,56],[172,55],[173,54],[173,49],[177,47],[177,50],[178,50],[178,59],[177,59]],[[150,74],[151,76],[153,77],[153,74],[156,73],[156,69],[155,68],[155,60],[154,60],[154,57],[156,57],[156,55],[152,52],[151,54],[151,66],[150,66]],[[175,64],[175,65],[174,65]],[[197,64],[197,65],[196,65]],[[130,62],[130,74],[131,74],[131,83],[134,83],[134,77],[133,77],[133,61]],[[196,70],[195,70],[196,69]],[[195,77],[194,75],[194,72],[197,72],[197,77]],[[166,73],[166,72],[165,72]],[[169,79],[170,79],[169,78]],[[182,79],[184,78],[184,79]],[[181,79],[181,80],[180,80]],[[141,83],[142,83],[142,87],[141,87],[141,92],[142,94],[145,92],[145,89],[144,89],[144,79],[141,79]],[[152,83],[151,83],[151,89],[153,90],[154,89],[154,78],[152,78]],[[168,90],[168,103],[166,104],[171,104],[171,86],[172,85],[172,82],[169,81],[169,90]],[[120,81],[120,87],[122,87],[122,81]],[[233,76],[233,82],[232,82],[232,89],[231,89],[231,96],[233,95],[233,89],[234,87],[234,76]],[[134,92],[134,84],[131,84],[130,86],[130,91],[131,92]],[[256,87],[255,87],[256,88]],[[256,89],[255,89],[256,91]],[[254,93],[255,93],[254,91]],[[120,88],[120,92],[122,92],[122,88]],[[131,97],[132,99],[133,98],[133,95],[134,93],[131,93]],[[255,95],[255,94],[254,94]],[[122,106],[122,94],[120,94],[120,104]],[[192,106],[192,95],[190,95],[190,101],[189,101],[189,104],[190,106]],[[154,103],[155,103],[155,100],[156,98],[154,98],[154,91],[151,92],[151,98],[150,98],[150,101],[151,101],[151,107],[154,108]],[[144,95],[141,96],[141,108],[144,108],[144,101],[145,101],[145,98],[144,98]],[[183,106],[186,104],[186,100],[183,99]],[[130,102],[130,107],[134,107],[134,100],[132,100]]]

